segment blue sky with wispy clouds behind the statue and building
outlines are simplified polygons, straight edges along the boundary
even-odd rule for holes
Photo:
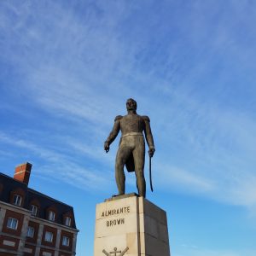
[[[96,203],[116,193],[119,139],[103,142],[133,97],[172,256],[255,256],[255,24],[249,0],[1,1],[0,172],[31,162],[93,255]]]

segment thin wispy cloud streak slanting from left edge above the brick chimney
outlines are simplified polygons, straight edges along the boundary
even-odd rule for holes
[[[55,150],[38,146],[29,141],[9,137],[3,132],[0,133],[0,141],[17,148],[26,148],[31,154],[37,155],[41,161],[46,160],[46,163],[42,164],[39,170],[33,170],[35,176],[40,173],[40,177],[42,177],[42,173],[44,173],[44,178],[52,179],[54,177],[57,180],[79,187],[79,189],[87,190],[98,190],[108,181],[108,172],[104,174],[99,170],[76,164],[68,154],[57,153]]]

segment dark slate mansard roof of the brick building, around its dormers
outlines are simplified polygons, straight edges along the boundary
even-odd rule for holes
[[[38,218],[47,219],[47,209],[49,207],[55,207],[56,216],[55,223],[63,224],[63,215],[67,212],[71,214],[73,217],[72,228],[76,229],[75,218],[73,214],[73,207],[68,206],[67,204],[57,201],[54,198],[49,197],[48,195],[44,195],[34,189],[30,189],[27,187],[26,183],[22,183],[20,181],[15,180],[13,177],[9,177],[0,172],[0,201],[4,201],[6,203],[10,202],[10,193],[15,189],[22,189],[25,194],[25,201],[23,208],[30,210],[31,202],[38,201],[39,209],[38,209]],[[2,190],[2,191],[1,191]]]

